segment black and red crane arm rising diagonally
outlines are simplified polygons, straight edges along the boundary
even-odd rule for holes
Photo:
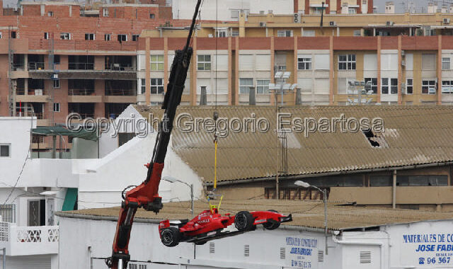
[[[183,50],[176,51],[176,57],[171,65],[170,77],[168,79],[167,91],[164,97],[162,109],[164,116],[159,125],[159,132],[154,144],[154,151],[148,167],[147,178],[142,184],[127,191],[125,200],[121,204],[120,216],[118,217],[115,237],[113,239],[113,253],[105,263],[109,268],[126,269],[130,261],[128,245],[130,241],[130,231],[134,221],[135,212],[139,207],[145,210],[155,212],[156,214],[162,209],[162,198],[159,196],[159,183],[161,173],[164,169],[164,160],[170,142],[171,130],[173,130],[173,120],[176,115],[176,108],[181,101],[184,90],[185,79],[189,69],[190,59],[193,49],[190,47],[195,21],[202,0],[197,1],[195,13]]]

